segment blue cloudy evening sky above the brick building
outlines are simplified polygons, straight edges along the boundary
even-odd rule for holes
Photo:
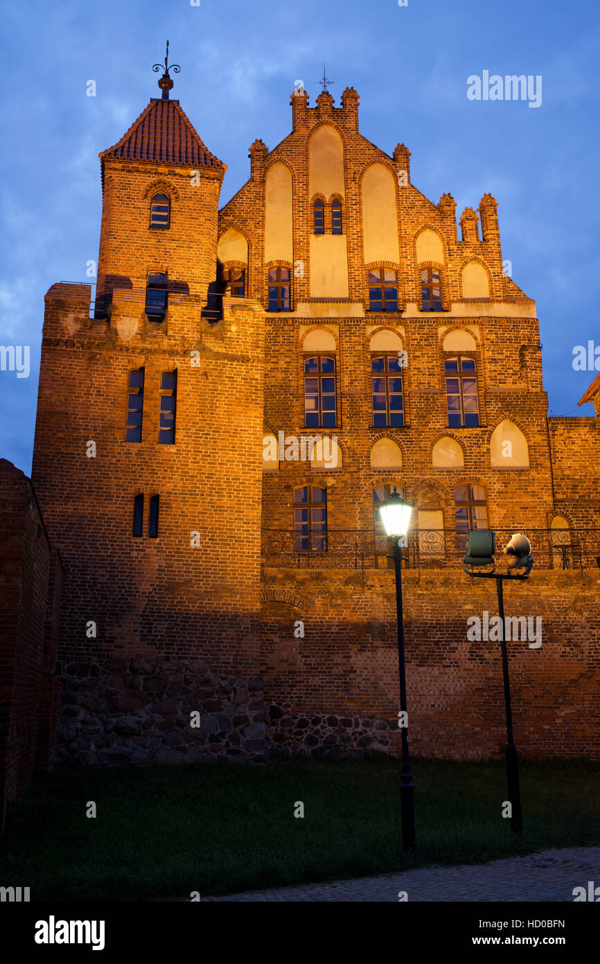
[[[273,148],[289,132],[297,80],[314,104],[324,61],[336,102],[346,86],[358,91],[361,132],[388,153],[404,142],[411,179],[431,201],[448,191],[459,215],[491,192],[512,277],[537,302],[549,408],[593,415],[577,402],[595,372],[574,371],[572,362],[576,345],[600,346],[595,302],[575,297],[600,275],[600,5],[193,4],[3,5],[0,344],[31,346],[31,374],[0,371],[0,457],[31,469],[43,296],[54,281],[89,281],[100,225],[97,155],[159,95],[151,67],[164,59],[167,38],[182,67],[172,96],[228,166],[223,202],[248,178],[254,138]],[[540,75],[541,105],[470,100],[467,78],[484,70]]]

